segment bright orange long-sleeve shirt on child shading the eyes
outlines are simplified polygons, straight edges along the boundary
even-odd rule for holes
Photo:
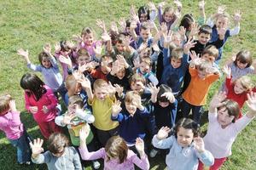
[[[210,74],[201,79],[198,77],[196,69],[191,67],[189,67],[189,73],[191,81],[189,82],[189,87],[183,93],[183,99],[191,105],[205,105],[209,88],[212,82],[218,80],[219,75]]]

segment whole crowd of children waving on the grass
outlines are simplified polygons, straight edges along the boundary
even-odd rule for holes
[[[137,12],[131,7],[130,19],[120,20],[120,28],[112,23],[109,31],[97,20],[102,40],[86,27],[73,37],[76,43],[56,43],[54,54],[46,44],[38,55],[40,65],[32,64],[27,50],[18,50],[27,67],[44,77],[26,73],[20,87],[26,111],[49,143],[44,152],[43,139],[31,141],[14,99],[2,95],[0,129],[17,147],[20,164],[32,160],[49,169],[82,169],[81,159],[91,160],[97,169],[102,158],[104,169],[134,169],[134,164],[149,169],[148,153],[154,157],[169,150],[168,169],[223,165],[237,134],[256,114],[256,88],[247,77],[256,72],[252,54],[241,50],[223,71],[218,66],[224,43],[240,31],[241,14],[235,13],[230,29],[223,6],[206,20],[201,1],[201,18],[195,21],[192,14],[181,17],[182,3],[174,3],[159,3],[158,8],[148,3]],[[154,22],[157,15],[159,24]],[[226,80],[210,102],[202,139],[202,106],[222,72]],[[246,101],[249,111],[243,115]],[[66,126],[73,146],[63,134]]]

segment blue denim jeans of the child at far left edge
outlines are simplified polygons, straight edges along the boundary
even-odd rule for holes
[[[19,163],[31,161],[31,150],[26,142],[26,133],[24,132],[20,139],[9,139],[9,142],[17,148],[17,159]]]

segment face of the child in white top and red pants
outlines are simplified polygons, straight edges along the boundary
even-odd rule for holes
[[[235,119],[235,116],[230,116],[225,107],[218,110],[218,123],[221,127],[227,127]]]

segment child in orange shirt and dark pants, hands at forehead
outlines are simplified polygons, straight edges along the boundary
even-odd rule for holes
[[[218,69],[212,67],[211,63],[204,59],[200,60],[199,64],[195,64],[196,61],[192,61],[189,65],[191,81],[189,82],[189,87],[182,94],[183,101],[181,104],[183,116],[188,117],[192,109],[193,120],[198,124],[201,122],[200,110],[202,105],[206,103],[209,88],[213,82],[218,80],[220,74]]]

